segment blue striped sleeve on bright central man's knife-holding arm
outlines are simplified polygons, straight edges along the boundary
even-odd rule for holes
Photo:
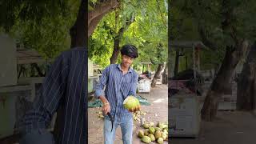
[[[99,96],[105,96],[104,87],[106,86],[106,82],[109,78],[110,66],[106,67],[102,72],[102,77],[99,79],[98,84],[95,90],[95,98],[99,98]]]

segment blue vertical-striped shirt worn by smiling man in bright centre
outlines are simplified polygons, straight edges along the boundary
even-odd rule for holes
[[[120,64],[111,64],[103,70],[95,90],[95,97],[104,95],[110,102],[110,114],[114,118],[114,122],[127,122],[133,118],[132,113],[124,108],[122,102],[128,95],[136,94],[137,83],[138,74],[131,68],[127,74],[122,74]]]

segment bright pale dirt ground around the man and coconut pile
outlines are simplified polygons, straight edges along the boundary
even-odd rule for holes
[[[167,122],[168,121],[168,91],[166,85],[157,85],[151,89],[150,94],[138,94],[143,98],[147,98],[151,103],[150,106],[142,106],[142,110],[145,110],[147,114],[144,116],[146,122]],[[88,143],[90,144],[102,144],[103,142],[103,119],[98,118],[96,115],[101,108],[88,109]],[[143,143],[137,137],[137,131],[142,129],[140,122],[134,122],[134,136],[133,144]],[[156,143],[156,142],[151,142]],[[165,142],[165,144],[168,142]],[[122,133],[120,126],[116,131],[116,138],[114,144],[122,144]]]

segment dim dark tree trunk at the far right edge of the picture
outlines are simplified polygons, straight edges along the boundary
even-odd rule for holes
[[[238,78],[237,110],[255,110],[256,46],[252,46]]]

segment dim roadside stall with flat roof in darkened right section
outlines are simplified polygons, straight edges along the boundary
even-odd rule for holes
[[[200,130],[200,57],[202,42],[171,42],[175,49],[192,49],[193,70],[174,75],[169,80],[169,131],[170,137],[197,137]]]

